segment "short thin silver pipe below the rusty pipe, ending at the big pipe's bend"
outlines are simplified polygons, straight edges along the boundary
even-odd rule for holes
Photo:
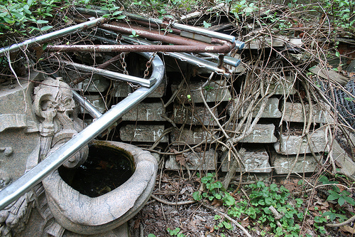
[[[98,52],[98,51],[96,51],[96,52]],[[151,79],[143,79],[143,78],[134,77],[132,75],[126,75],[123,73],[112,72],[111,70],[94,68],[94,67],[91,67],[88,65],[82,65],[80,63],[73,63],[73,62],[70,62],[67,60],[59,60],[58,61],[58,60],[55,60],[54,58],[50,58],[48,60],[52,63],[58,63],[58,64],[62,64],[62,65],[71,66],[77,70],[83,70],[83,71],[86,71],[89,73],[95,73],[97,75],[102,75],[102,76],[111,78],[112,80],[119,80],[119,81],[126,81],[129,83],[136,83],[138,85],[142,85],[147,88],[151,88],[151,86],[153,86],[154,83],[156,82],[156,78],[154,78],[154,77],[151,77]]]

